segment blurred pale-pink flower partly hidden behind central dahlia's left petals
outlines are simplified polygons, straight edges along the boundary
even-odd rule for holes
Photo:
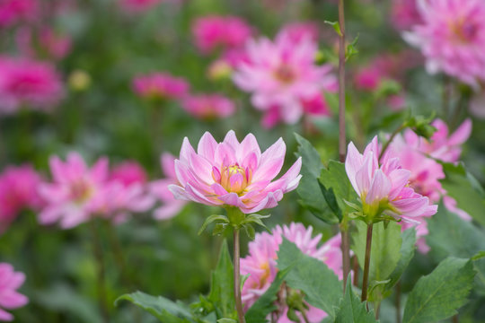
[[[163,153],[160,163],[165,178],[152,182],[150,184],[150,191],[163,204],[154,210],[154,218],[157,220],[167,220],[179,214],[187,202],[175,199],[169,190],[170,185],[180,185],[175,172],[175,157],[171,153]]]

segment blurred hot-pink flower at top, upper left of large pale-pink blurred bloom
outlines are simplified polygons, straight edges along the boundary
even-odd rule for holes
[[[206,16],[192,25],[195,44],[202,54],[216,48],[240,48],[251,37],[251,26],[235,16]]]

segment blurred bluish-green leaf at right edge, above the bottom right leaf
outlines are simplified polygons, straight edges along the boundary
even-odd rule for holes
[[[430,255],[437,261],[448,256],[471,258],[485,250],[485,232],[451,213],[443,204],[428,219],[428,231]]]

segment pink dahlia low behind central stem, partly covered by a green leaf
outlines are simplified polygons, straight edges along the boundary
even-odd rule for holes
[[[322,234],[313,238],[312,232],[311,226],[306,229],[302,223],[291,223],[289,226],[277,226],[271,234],[268,232],[256,234],[255,239],[249,243],[248,256],[241,259],[241,275],[249,275],[242,286],[244,310],[248,310],[274,281],[278,273],[277,252],[283,237],[294,242],[304,254],[321,260],[341,279],[343,272],[340,235],[336,235],[319,247]],[[310,305],[308,307],[305,314],[310,322],[320,322],[327,316],[323,310]],[[287,310],[286,302],[283,301],[279,306],[278,323],[291,322],[287,318]]]

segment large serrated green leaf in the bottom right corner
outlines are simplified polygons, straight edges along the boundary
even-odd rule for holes
[[[472,289],[472,260],[446,258],[414,286],[404,310],[403,323],[431,323],[452,317]]]

